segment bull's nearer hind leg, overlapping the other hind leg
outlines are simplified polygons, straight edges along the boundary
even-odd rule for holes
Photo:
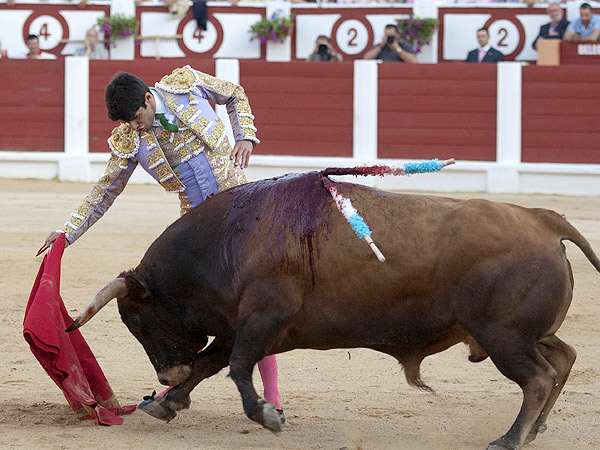
[[[492,342],[478,339],[498,370],[523,390],[517,419],[504,436],[488,446],[488,450],[520,450],[557,381],[556,371],[542,356],[536,343],[526,344],[523,336],[514,333],[514,330],[496,330],[491,333],[495,336]]]

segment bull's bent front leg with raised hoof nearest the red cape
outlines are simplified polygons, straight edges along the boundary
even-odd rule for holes
[[[205,378],[209,378],[227,366],[230,346],[219,345],[218,339],[198,353],[192,364],[190,376],[181,384],[169,389],[162,397],[149,403],[142,403],[139,409],[167,422],[181,411],[188,401],[190,392]]]

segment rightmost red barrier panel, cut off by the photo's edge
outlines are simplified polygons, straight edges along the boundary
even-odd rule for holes
[[[523,162],[600,164],[600,66],[523,67]]]

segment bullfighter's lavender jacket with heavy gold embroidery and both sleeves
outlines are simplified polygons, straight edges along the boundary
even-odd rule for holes
[[[178,131],[153,126],[150,131],[139,133],[127,123],[112,131],[108,139],[111,155],[104,175],[64,225],[69,243],[102,217],[138,163],[167,192],[179,194],[182,215],[190,208],[190,202],[177,167],[201,152],[220,191],[247,181],[244,172],[229,159],[227,128],[209,103],[226,105],[236,142],[250,140],[257,144],[254,116],[241,86],[185,66],[164,76],[155,84],[155,92],[177,118]]]

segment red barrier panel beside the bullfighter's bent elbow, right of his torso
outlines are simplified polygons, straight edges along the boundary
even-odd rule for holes
[[[240,61],[256,154],[352,156],[353,65]]]

